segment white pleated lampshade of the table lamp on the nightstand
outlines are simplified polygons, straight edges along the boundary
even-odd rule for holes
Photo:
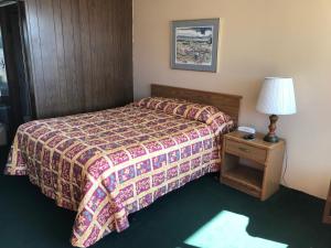
[[[268,115],[296,114],[293,79],[266,77],[259,93],[256,109]]]

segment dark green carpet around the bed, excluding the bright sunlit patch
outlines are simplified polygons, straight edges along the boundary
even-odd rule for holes
[[[57,207],[25,176],[2,175],[6,149],[0,149],[0,247],[71,247],[75,213]],[[246,231],[250,236],[291,248],[331,248],[331,226],[321,224],[323,205],[321,200],[286,187],[259,202],[221,185],[211,174],[130,215],[127,230],[110,234],[93,247],[193,247],[184,241],[220,213],[231,212],[249,218]],[[239,230],[227,233],[239,237]],[[227,237],[221,235],[218,242],[226,242]]]

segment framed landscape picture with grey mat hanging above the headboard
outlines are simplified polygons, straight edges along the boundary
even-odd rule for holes
[[[171,68],[217,71],[220,19],[172,22]]]

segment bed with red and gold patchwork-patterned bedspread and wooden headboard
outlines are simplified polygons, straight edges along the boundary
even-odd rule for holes
[[[128,215],[221,166],[222,133],[241,97],[151,85],[125,107],[19,127],[4,173],[28,175],[76,211],[71,242],[88,247],[129,227]],[[221,110],[221,111],[220,111]]]

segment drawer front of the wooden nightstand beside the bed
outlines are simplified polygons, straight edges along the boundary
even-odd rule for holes
[[[226,140],[225,151],[260,163],[265,163],[267,158],[267,151],[265,149],[247,145],[232,140]]]

